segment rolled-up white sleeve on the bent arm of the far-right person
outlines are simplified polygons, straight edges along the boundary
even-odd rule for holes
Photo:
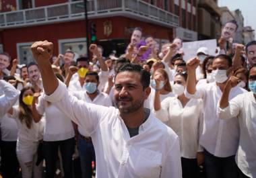
[[[217,105],[217,116],[222,120],[234,118],[238,116],[241,110],[240,103],[243,100],[241,95],[238,95],[229,101],[228,107],[220,108],[220,101]]]

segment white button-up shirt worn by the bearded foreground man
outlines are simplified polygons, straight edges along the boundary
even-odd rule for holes
[[[182,177],[179,138],[150,114],[130,138],[119,109],[79,100],[59,82],[44,98],[56,102],[73,122],[92,137],[96,153],[96,177]]]

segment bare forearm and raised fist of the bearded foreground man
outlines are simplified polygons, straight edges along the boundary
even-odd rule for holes
[[[58,87],[57,77],[53,73],[50,58],[53,55],[53,43],[48,41],[35,42],[31,46],[34,59],[42,76],[42,83],[46,95],[51,95]]]

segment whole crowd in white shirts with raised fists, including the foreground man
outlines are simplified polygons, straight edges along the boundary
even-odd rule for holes
[[[120,56],[53,58],[48,41],[29,64],[1,53],[2,177],[75,177],[76,158],[83,178],[256,177],[256,41],[232,48],[237,28],[187,61],[181,38],[141,28]]]

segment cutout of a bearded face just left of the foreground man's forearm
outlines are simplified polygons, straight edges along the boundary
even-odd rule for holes
[[[28,77],[30,79],[30,83],[32,87],[36,90],[36,92],[42,91],[42,80],[40,79],[40,72],[38,69],[38,65],[35,62],[30,62],[28,64]]]

